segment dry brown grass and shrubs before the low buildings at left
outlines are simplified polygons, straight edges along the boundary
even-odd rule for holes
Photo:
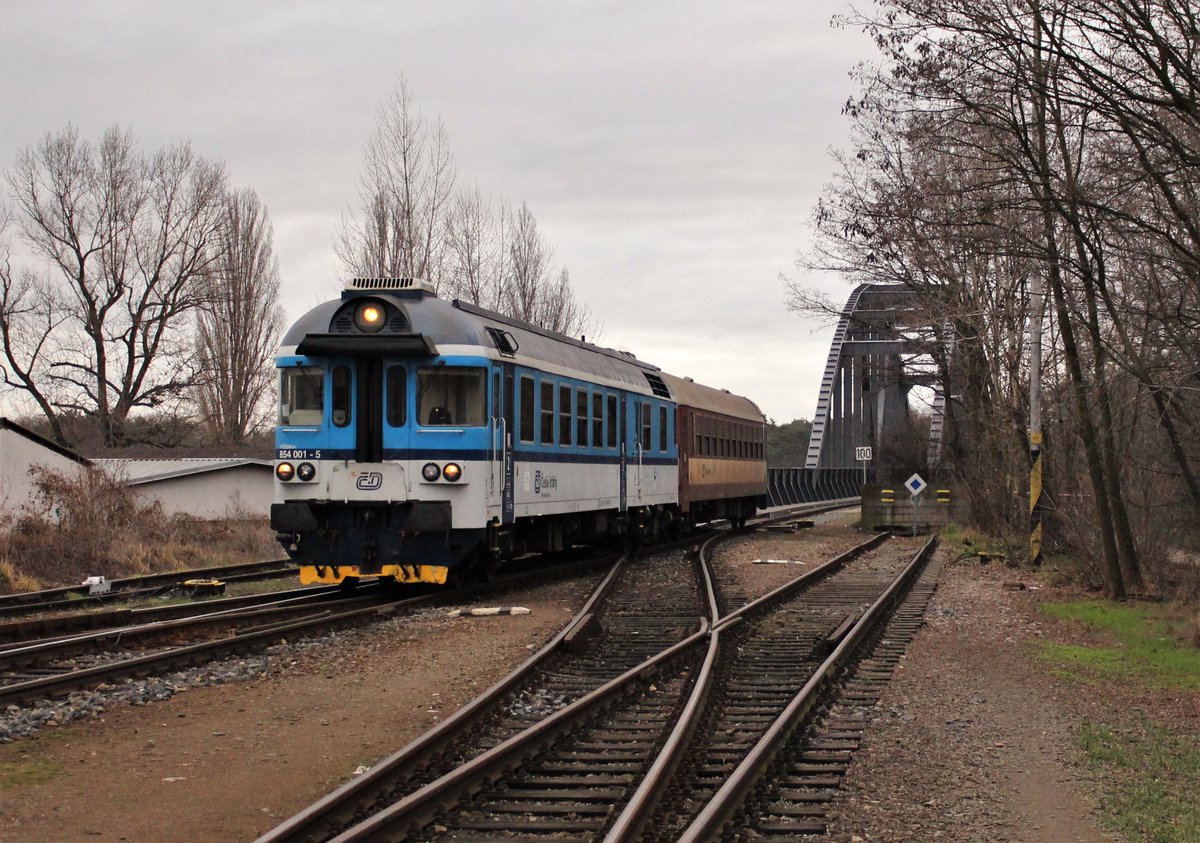
[[[102,574],[250,562],[280,554],[262,519],[194,521],[144,504],[119,479],[95,470],[38,470],[36,496],[0,525],[0,592],[68,585]]]

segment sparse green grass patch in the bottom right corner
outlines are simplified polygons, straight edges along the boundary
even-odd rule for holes
[[[1200,747],[1141,719],[1120,729],[1084,723],[1085,760],[1100,771],[1104,824],[1126,839],[1200,841]]]

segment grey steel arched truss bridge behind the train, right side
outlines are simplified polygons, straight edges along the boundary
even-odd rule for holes
[[[936,466],[946,424],[946,393],[931,364],[931,317],[900,285],[854,288],[834,330],[803,467],[768,470],[772,506],[856,497],[858,448],[877,460],[884,443],[911,431],[908,393],[923,385],[929,406],[929,464]]]

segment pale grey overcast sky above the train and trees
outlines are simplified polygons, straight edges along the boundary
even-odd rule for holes
[[[844,0],[0,0],[0,167],[68,122],[190,139],[258,191],[289,321],[337,294],[334,232],[397,74],[460,184],[526,202],[605,345],[811,418],[832,327],[780,274],[845,145]],[[810,282],[845,300],[835,277]],[[589,337],[592,339],[592,337]]]

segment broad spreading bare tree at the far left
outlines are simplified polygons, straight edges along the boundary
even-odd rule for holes
[[[20,240],[40,271],[0,283],[7,383],[61,438],[56,417],[94,414],[109,444],[131,411],[194,384],[180,317],[203,295],[224,171],[188,144],[143,154],[119,127],[98,145],[67,126],[5,174]]]

